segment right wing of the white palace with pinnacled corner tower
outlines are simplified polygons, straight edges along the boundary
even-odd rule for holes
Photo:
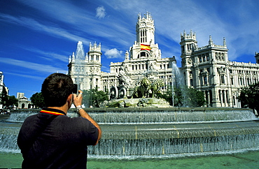
[[[259,81],[259,55],[257,64],[228,60],[228,48],[215,45],[211,36],[209,44],[197,46],[196,34],[181,34],[181,71],[186,85],[204,91],[208,106],[241,107],[237,101],[241,87]]]

